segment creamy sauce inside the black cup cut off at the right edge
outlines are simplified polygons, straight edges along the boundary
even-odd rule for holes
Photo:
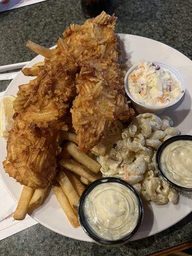
[[[161,153],[160,163],[170,181],[184,188],[192,188],[192,141],[170,143]]]

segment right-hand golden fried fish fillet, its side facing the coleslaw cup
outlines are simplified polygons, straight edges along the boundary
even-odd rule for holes
[[[108,122],[127,120],[134,114],[124,95],[115,21],[114,16],[102,12],[65,33],[83,52],[71,113],[79,150],[85,152],[99,142]]]

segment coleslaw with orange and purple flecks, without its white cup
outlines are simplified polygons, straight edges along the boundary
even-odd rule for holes
[[[164,106],[183,93],[180,82],[169,70],[143,61],[128,78],[132,97],[147,106]]]

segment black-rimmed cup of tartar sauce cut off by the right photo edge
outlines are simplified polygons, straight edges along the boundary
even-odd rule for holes
[[[158,148],[156,163],[161,177],[173,188],[192,192],[192,136],[179,135]]]

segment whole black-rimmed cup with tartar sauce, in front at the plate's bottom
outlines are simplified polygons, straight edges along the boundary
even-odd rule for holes
[[[83,230],[103,245],[127,243],[140,227],[143,204],[134,188],[113,177],[95,180],[81,195],[78,217]]]

